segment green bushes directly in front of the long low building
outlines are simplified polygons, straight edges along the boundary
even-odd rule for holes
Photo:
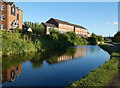
[[[51,39],[61,41],[68,45],[86,45],[88,44],[85,38],[78,37],[75,32],[59,33],[53,28],[51,29]]]

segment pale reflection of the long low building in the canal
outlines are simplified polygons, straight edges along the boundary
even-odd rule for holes
[[[47,59],[47,62],[49,64],[53,64],[53,63],[59,63],[59,62],[64,62],[64,61],[68,61],[68,60],[72,60],[75,58],[80,58],[82,56],[85,56],[86,54],[86,47],[81,47],[81,48],[69,48],[67,49],[67,51],[61,55],[57,56],[53,56],[50,57],[49,59]]]

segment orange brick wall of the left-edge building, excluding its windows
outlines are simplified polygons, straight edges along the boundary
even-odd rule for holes
[[[11,14],[11,7],[14,4],[13,5],[9,5],[9,4],[4,3],[4,2],[1,2],[1,3],[2,3],[2,5],[5,6],[4,10],[1,10],[1,6],[0,6],[0,12],[2,12],[0,14],[0,19],[1,19],[1,15],[5,16],[5,20],[2,20],[1,24],[5,25],[5,29],[7,29],[7,30],[11,29],[11,24],[12,24],[13,21],[18,22],[18,24],[19,24],[18,28],[22,29],[22,18],[23,18],[22,14],[23,14],[23,12],[21,10],[19,10],[18,8],[15,8],[16,14],[12,15]],[[19,14],[19,20],[17,20],[17,14]]]

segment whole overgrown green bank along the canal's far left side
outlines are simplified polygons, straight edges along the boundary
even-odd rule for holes
[[[11,33],[1,31],[2,50],[4,56],[13,54],[23,54],[31,52],[46,52],[51,50],[66,49],[74,45],[85,45],[88,42],[84,38],[79,38],[74,32],[58,33],[53,32],[49,36],[36,37],[24,33]]]

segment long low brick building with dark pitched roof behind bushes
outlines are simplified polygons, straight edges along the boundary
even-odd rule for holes
[[[55,28],[58,31],[60,31],[61,33],[73,31],[77,35],[82,36],[82,37],[90,36],[90,34],[86,28],[76,25],[76,24],[68,23],[66,21],[51,18],[46,23],[42,23],[42,24],[45,26],[46,34],[50,34],[50,31],[49,31],[50,28]]]

